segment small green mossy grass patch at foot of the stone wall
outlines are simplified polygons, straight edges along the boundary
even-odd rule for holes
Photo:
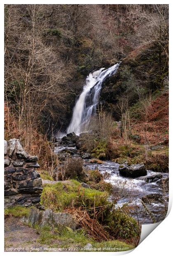
[[[30,207],[23,206],[13,206],[9,208],[5,208],[4,214],[5,216],[14,216],[14,217],[28,217],[30,213]]]

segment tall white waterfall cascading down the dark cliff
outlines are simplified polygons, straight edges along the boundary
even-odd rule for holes
[[[67,133],[74,132],[79,135],[86,131],[91,115],[96,111],[103,81],[105,81],[108,76],[112,76],[117,72],[120,63],[121,62],[108,69],[101,68],[93,73],[89,73],[83,91],[73,109],[72,119],[67,128]]]

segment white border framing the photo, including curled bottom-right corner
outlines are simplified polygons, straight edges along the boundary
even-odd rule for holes
[[[4,41],[3,41],[3,35],[4,35],[4,27],[3,27],[3,24],[4,24],[4,4],[105,4],[105,1],[103,0],[100,0],[100,1],[94,1],[94,0],[83,0],[83,1],[55,1],[55,0],[52,0],[51,2],[48,2],[46,0],[42,0],[42,1],[3,1],[0,3],[0,12],[1,12],[1,15],[0,15],[0,32],[1,32],[1,40],[0,40],[0,104],[1,104],[1,111],[0,111],[0,133],[1,133],[1,147],[0,147],[0,160],[1,160],[1,179],[0,179],[0,183],[1,183],[1,186],[0,186],[0,189],[2,190],[1,193],[0,193],[0,199],[1,199],[1,208],[2,210],[0,211],[0,219],[1,219],[1,239],[0,239],[0,251],[2,252],[2,254],[9,254],[9,252],[4,252],[4,242],[3,242],[3,237],[4,237],[4,222],[3,222],[3,219],[4,219],[4,212],[3,212],[3,204],[4,204],[4,195],[3,195],[3,138],[4,138],[4,134],[3,134],[3,119],[4,119],[4,116],[3,116],[3,102],[4,102],[4,99],[3,99],[3,95],[4,95],[4,91],[3,91],[3,84],[4,84]],[[172,21],[172,18],[173,18],[173,4],[171,3],[171,1],[166,1],[164,2],[163,0],[162,1],[148,1],[148,0],[145,0],[145,1],[121,1],[121,4],[169,4],[169,13],[170,13],[170,41],[172,39],[172,24],[171,21]],[[115,1],[106,1],[106,4],[117,4],[117,2]],[[171,51],[171,47],[170,47],[170,56],[171,56],[171,67],[170,67],[170,70],[172,71],[172,51]],[[173,133],[172,133],[172,128],[173,128],[173,113],[172,113],[172,109],[173,109],[173,100],[172,100],[172,85],[173,84],[173,78],[172,78],[172,73],[170,72],[170,146],[169,146],[169,149],[170,149],[170,159],[172,160],[173,159]],[[170,161],[170,186],[169,186],[169,194],[170,194],[170,201],[169,201],[169,210],[168,212],[170,212],[171,210],[171,206],[172,206],[172,195],[173,195],[173,175],[172,175],[172,172],[173,172],[173,161]],[[148,253],[150,253],[150,255],[154,255],[156,254],[157,256],[159,255],[167,255],[169,256],[172,252],[172,248],[171,248],[171,244],[172,244],[172,228],[171,228],[171,220],[173,219],[173,211],[171,211],[171,213],[167,216],[167,218],[161,223],[159,224],[159,227],[157,227],[156,230],[154,230],[152,232],[152,230],[154,228],[156,228],[157,225],[154,225],[154,224],[150,224],[150,225],[143,225],[144,227],[142,228],[142,234],[141,234],[141,241],[143,239],[145,239],[145,242],[142,242],[136,249],[134,250],[131,250],[131,251],[125,251],[125,252],[99,252],[99,254],[101,255],[122,255],[122,254],[127,254],[127,253],[130,253],[131,252],[131,255],[132,256],[143,256]],[[151,226],[152,225],[152,226]],[[149,226],[151,228],[151,230],[149,231]],[[170,231],[170,234],[169,234],[169,231]],[[148,235],[150,232],[152,232],[150,235]],[[146,237],[146,238],[145,238]],[[140,241],[140,242],[141,242]],[[28,252],[28,254],[31,254],[32,252]],[[17,254],[17,252],[14,252],[14,254]],[[24,254],[24,253],[23,253]],[[22,255],[23,255],[22,254]],[[40,255],[42,254],[42,252],[37,252],[37,255]],[[66,252],[66,255],[70,255],[71,253],[70,252]],[[79,253],[75,253],[76,254],[79,254]],[[94,254],[98,254],[98,252],[95,252]],[[21,255],[21,252],[20,252],[20,255]],[[84,252],[82,255],[91,255],[91,252]]]

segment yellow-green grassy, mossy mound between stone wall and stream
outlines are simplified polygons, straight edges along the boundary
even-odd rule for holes
[[[64,207],[93,208],[110,205],[104,192],[84,188],[77,180],[45,185],[41,195],[41,204],[56,211]]]

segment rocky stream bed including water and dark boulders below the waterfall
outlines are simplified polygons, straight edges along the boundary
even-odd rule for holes
[[[80,137],[70,133],[56,139],[54,152],[61,161],[82,158],[86,171],[98,169],[105,181],[113,186],[110,200],[115,203],[115,207],[126,204],[130,214],[139,223],[156,223],[165,218],[168,207],[168,173],[146,170],[143,163],[132,166],[113,161],[91,164],[91,155],[81,152],[80,146]]]

